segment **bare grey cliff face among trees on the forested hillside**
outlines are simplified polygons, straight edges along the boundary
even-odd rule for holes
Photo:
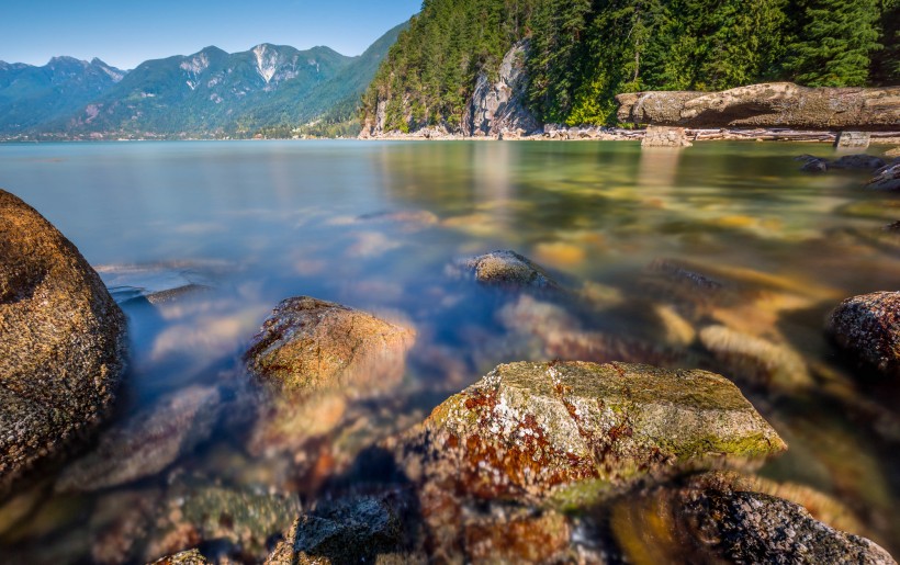
[[[503,57],[497,81],[491,83],[487,75],[479,75],[472,100],[462,120],[465,135],[498,135],[504,131],[521,129],[531,133],[538,121],[525,108],[526,75],[524,68],[528,42],[521,41]]]

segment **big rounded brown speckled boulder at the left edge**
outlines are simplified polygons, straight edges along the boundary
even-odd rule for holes
[[[125,347],[125,316],[78,249],[0,190],[0,490],[101,419]]]

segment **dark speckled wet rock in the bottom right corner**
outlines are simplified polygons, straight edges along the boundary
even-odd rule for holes
[[[659,488],[616,505],[612,531],[626,558],[637,563],[657,557],[687,563],[895,563],[871,541],[837,531],[799,505],[741,486],[705,482]]]

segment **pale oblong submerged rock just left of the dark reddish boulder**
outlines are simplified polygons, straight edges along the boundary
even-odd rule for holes
[[[796,391],[812,386],[806,362],[788,347],[725,326],[700,330],[700,342],[735,378],[766,387]]]

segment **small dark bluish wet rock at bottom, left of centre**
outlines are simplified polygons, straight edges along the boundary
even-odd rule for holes
[[[400,519],[384,500],[342,499],[301,516],[267,563],[368,563],[402,542]]]

